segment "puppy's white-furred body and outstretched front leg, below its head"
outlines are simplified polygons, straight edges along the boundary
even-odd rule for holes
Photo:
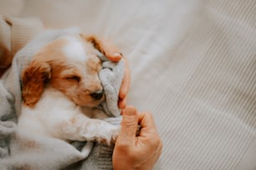
[[[119,128],[87,117],[81,107],[76,106],[62,92],[47,87],[35,107],[23,105],[18,131],[62,140],[98,140],[109,144],[117,137]]]

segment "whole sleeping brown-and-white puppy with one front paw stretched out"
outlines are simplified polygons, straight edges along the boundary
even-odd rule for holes
[[[120,128],[96,118],[105,99],[95,37],[69,35],[42,48],[23,70],[18,130],[65,141],[115,142]]]

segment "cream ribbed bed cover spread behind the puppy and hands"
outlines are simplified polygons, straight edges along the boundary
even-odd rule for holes
[[[0,0],[1,13],[109,38],[131,66],[128,104],[164,143],[155,169],[256,169],[256,1]]]

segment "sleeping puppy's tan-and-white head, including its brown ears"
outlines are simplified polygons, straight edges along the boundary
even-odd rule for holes
[[[97,49],[97,50],[96,50]],[[95,107],[104,99],[98,73],[99,51],[105,53],[95,37],[60,37],[49,43],[23,70],[23,102],[33,107],[51,86],[79,106]]]

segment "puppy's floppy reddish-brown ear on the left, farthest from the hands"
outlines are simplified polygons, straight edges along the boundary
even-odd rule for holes
[[[25,68],[22,74],[23,102],[28,107],[33,107],[44,92],[44,87],[49,82],[51,68],[47,62],[33,61]]]

